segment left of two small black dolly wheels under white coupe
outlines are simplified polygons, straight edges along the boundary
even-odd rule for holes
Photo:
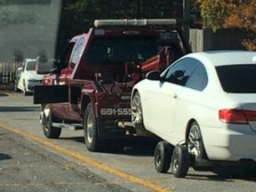
[[[173,147],[167,141],[159,141],[155,149],[155,168],[156,172],[168,172],[171,159],[172,159]]]

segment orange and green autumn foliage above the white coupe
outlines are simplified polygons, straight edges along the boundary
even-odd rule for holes
[[[255,0],[197,0],[204,28],[240,28],[248,32],[244,47],[256,50]]]

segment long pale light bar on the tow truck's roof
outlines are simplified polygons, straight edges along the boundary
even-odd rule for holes
[[[94,27],[106,26],[148,26],[148,25],[176,25],[175,19],[144,19],[144,20],[94,20]]]

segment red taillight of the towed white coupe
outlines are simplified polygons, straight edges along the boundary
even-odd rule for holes
[[[227,124],[248,124],[256,121],[256,111],[225,108],[219,111],[219,119]]]

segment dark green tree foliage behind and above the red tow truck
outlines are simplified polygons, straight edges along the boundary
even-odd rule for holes
[[[93,20],[173,17],[182,17],[182,0],[63,0],[57,56],[65,40],[87,32]]]

